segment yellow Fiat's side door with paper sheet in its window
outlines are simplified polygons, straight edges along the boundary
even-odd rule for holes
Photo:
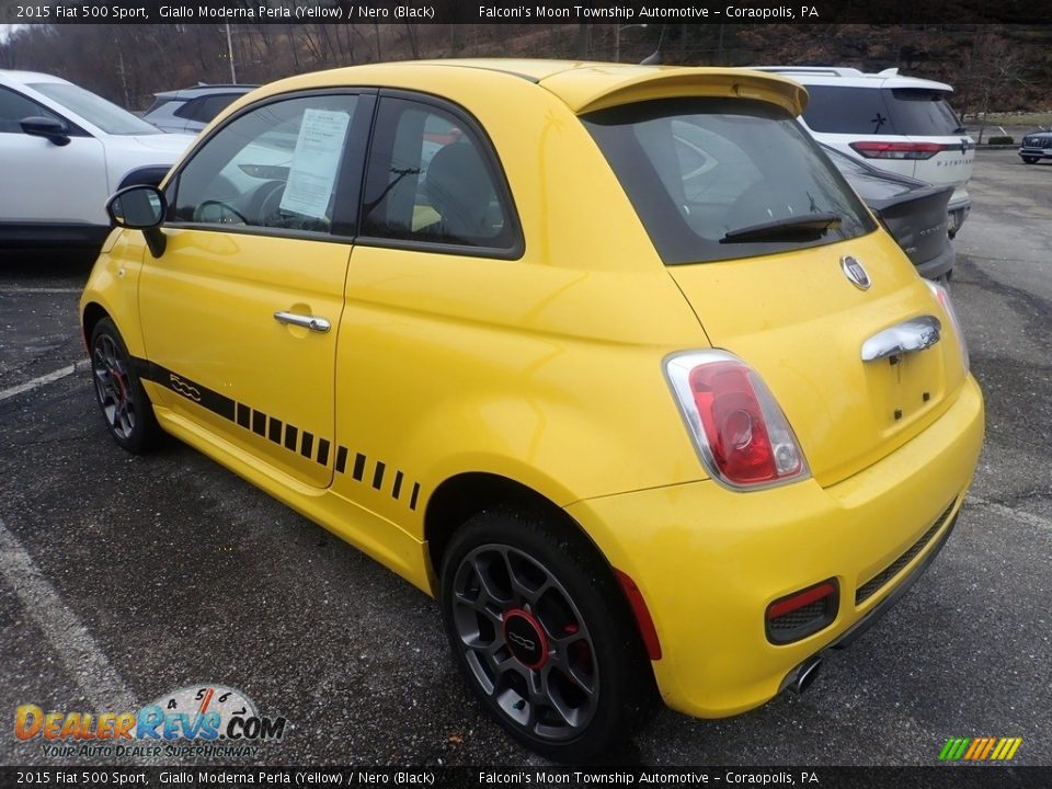
[[[334,364],[375,98],[265,100],[165,188],[165,250],[139,279],[162,405],[293,480],[332,472]]]

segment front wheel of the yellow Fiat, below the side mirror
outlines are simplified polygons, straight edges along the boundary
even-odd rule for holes
[[[153,405],[121,332],[108,318],[102,318],[91,332],[91,377],[95,401],[113,439],[135,455],[156,446],[161,428]]]

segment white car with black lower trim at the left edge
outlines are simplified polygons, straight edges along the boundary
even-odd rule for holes
[[[0,70],[0,252],[98,248],[106,198],[158,183],[193,141],[58,77]]]

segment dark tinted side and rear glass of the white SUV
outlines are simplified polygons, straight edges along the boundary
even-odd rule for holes
[[[962,134],[946,91],[928,88],[808,85],[803,119],[826,134],[945,137]]]

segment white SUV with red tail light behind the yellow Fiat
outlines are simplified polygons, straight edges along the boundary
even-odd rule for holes
[[[800,118],[822,142],[882,170],[953,186],[952,238],[971,209],[968,181],[975,144],[947,104],[953,89],[902,77],[899,69],[862,73],[853,68],[762,66],[808,89]]]

